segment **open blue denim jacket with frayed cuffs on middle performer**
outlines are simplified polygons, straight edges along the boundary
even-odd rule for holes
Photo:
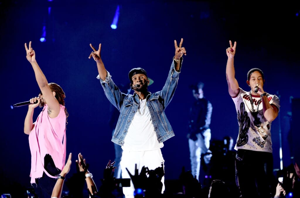
[[[159,143],[164,142],[174,136],[173,129],[164,110],[173,98],[179,79],[180,69],[181,65],[179,71],[175,70],[173,60],[167,81],[163,89],[155,93],[148,92],[146,97],[146,104],[149,108],[152,123]],[[99,75],[97,76],[97,79],[100,79],[104,93],[108,100],[120,111],[118,123],[111,141],[122,146],[125,136],[128,132],[129,125],[131,124],[135,113],[138,111],[140,102],[139,97],[136,93],[133,95],[122,93],[113,82],[109,72],[107,72],[105,81],[103,81]]]

